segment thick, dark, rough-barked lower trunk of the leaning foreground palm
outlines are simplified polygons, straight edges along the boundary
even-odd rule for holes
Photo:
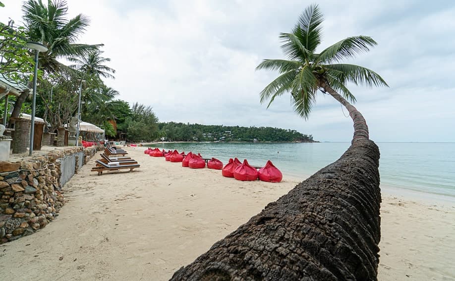
[[[378,167],[359,138],[171,280],[377,280]]]

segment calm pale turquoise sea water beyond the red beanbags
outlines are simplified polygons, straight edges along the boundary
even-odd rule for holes
[[[153,147],[199,152],[224,164],[271,160],[284,175],[306,177],[340,158],[349,143],[160,143]],[[455,197],[455,143],[377,143],[381,186]]]

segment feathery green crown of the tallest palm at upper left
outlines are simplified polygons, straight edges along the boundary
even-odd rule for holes
[[[25,28],[31,41],[41,42],[49,49],[40,53],[40,65],[46,71],[69,70],[57,58],[83,56],[101,45],[77,44],[90,20],[83,14],[67,19],[68,5],[65,0],[27,0],[22,6]]]

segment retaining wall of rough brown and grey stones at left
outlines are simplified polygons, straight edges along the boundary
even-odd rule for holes
[[[101,147],[68,147],[23,161],[0,162],[0,244],[16,240],[45,227],[58,216],[65,203],[61,193],[62,160],[73,159],[79,169],[83,152],[86,164]],[[104,147],[102,147],[104,149]],[[74,155],[76,157],[74,157]],[[63,161],[64,162],[64,161]]]

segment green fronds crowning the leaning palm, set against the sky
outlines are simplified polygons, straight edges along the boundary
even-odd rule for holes
[[[261,103],[269,101],[269,107],[275,98],[290,93],[295,112],[307,119],[318,89],[325,93],[330,87],[341,92],[345,99],[355,102],[355,97],[346,87],[348,82],[368,87],[388,87],[376,72],[359,65],[341,63],[342,59],[368,52],[377,45],[371,37],[348,37],[316,53],[321,43],[323,20],[318,5],[311,5],[302,12],[291,33],[280,34],[281,48],[288,59],[264,59],[256,67],[256,70],[280,72],[280,76],[260,93]]]

